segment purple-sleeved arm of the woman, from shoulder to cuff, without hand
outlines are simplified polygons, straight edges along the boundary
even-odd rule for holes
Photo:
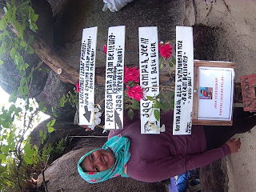
[[[185,173],[187,170],[194,170],[198,167],[206,166],[211,162],[230,154],[230,147],[225,144],[218,149],[208,150],[201,154],[182,154],[169,156],[145,162],[144,166],[128,166],[127,174],[142,182],[159,182],[166,178]]]

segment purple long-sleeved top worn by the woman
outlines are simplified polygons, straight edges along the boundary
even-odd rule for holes
[[[173,135],[173,111],[161,116],[166,131],[161,134],[141,134],[139,119],[124,119],[124,129],[110,131],[109,138],[122,134],[130,138],[130,160],[127,174],[138,181],[158,182],[206,166],[230,154],[226,144],[206,150],[206,135],[202,126],[193,126],[190,135]]]

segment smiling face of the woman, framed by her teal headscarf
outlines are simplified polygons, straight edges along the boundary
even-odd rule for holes
[[[114,165],[114,154],[108,150],[95,150],[89,154],[81,163],[85,172],[99,172],[110,169]]]

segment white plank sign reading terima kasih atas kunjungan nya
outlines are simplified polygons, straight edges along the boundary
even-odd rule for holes
[[[194,83],[193,28],[176,26],[176,76],[173,134],[191,134]]]

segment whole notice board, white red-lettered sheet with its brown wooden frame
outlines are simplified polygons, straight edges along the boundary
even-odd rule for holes
[[[194,60],[193,125],[232,126],[234,62]]]

